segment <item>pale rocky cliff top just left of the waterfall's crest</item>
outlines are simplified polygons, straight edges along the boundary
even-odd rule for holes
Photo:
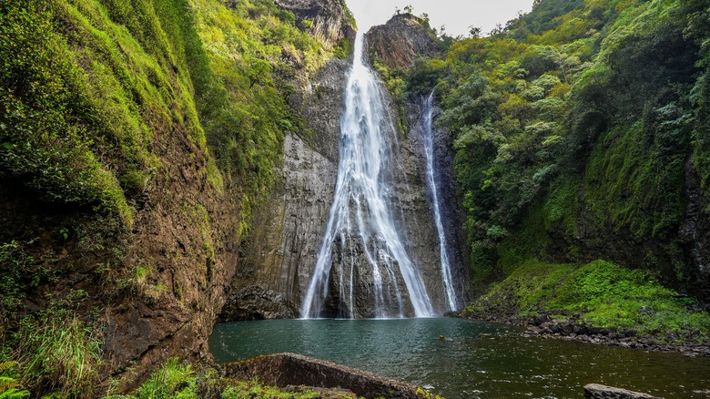
[[[355,40],[354,19],[344,0],[275,0],[279,8],[296,15],[297,22],[326,46],[342,39]],[[309,21],[309,26],[304,24]],[[312,26],[310,26],[312,23]]]

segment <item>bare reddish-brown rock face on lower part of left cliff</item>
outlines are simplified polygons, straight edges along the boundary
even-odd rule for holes
[[[130,230],[90,207],[39,200],[19,181],[0,180],[0,242],[32,240],[26,251],[57,268],[55,280],[27,296],[28,311],[59,302],[96,320],[105,362],[96,392],[133,388],[169,357],[208,357],[237,263],[234,188],[211,187],[205,152],[187,131],[160,133],[161,167],[135,199]]]

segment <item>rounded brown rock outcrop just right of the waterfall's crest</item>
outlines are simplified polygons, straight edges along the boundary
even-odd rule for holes
[[[372,27],[367,37],[370,56],[391,68],[411,67],[417,56],[434,56],[439,51],[429,22],[411,14],[392,16],[387,24]]]

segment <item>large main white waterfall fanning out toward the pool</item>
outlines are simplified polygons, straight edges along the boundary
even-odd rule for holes
[[[363,42],[358,33],[340,118],[335,195],[318,261],[301,303],[302,318],[322,315],[331,285],[340,290],[339,317],[403,317],[410,310],[417,317],[434,313],[420,271],[405,251],[392,220],[391,187],[386,177],[391,158],[387,133],[393,132],[380,87],[362,59]],[[337,284],[330,283],[333,274]],[[367,300],[361,300],[363,297]],[[356,309],[359,298],[370,302],[373,312],[361,314]]]

